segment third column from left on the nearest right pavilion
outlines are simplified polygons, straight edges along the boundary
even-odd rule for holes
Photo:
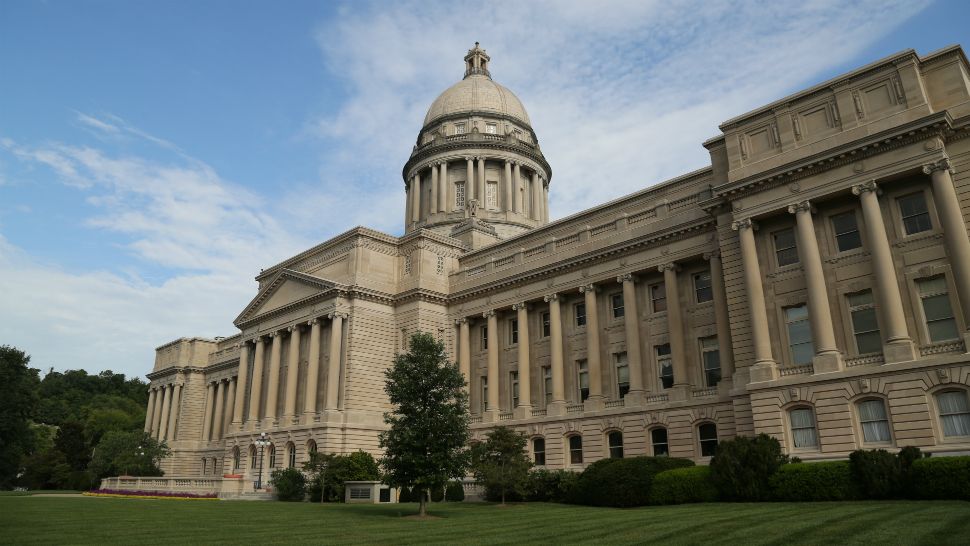
[[[872,256],[872,274],[876,277],[876,297],[879,305],[879,326],[885,342],[882,346],[883,358],[890,362],[909,362],[916,360],[916,348],[906,327],[906,312],[899,292],[896,266],[893,263],[886,224],[879,207],[879,187],[874,181],[852,187],[852,193],[859,196],[862,204],[862,218],[866,224],[866,243]]]

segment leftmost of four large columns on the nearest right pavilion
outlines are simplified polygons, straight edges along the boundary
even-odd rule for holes
[[[778,364],[771,357],[771,337],[768,332],[765,292],[761,285],[761,265],[758,264],[758,249],[754,243],[754,222],[750,218],[737,220],[731,224],[731,229],[738,232],[741,243],[744,289],[751,314],[749,326],[754,351],[754,365],[750,370],[751,382],[778,379]]]

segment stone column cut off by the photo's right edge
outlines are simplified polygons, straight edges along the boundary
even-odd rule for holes
[[[967,328],[963,339],[970,352],[970,239],[967,226],[960,211],[960,198],[953,187],[950,160],[943,158],[936,163],[923,166],[923,172],[930,175],[933,184],[933,201],[943,228],[943,242],[950,257],[953,269],[953,284],[957,288],[960,307],[963,308],[963,324]]]

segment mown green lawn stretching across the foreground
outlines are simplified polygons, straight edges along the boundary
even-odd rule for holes
[[[317,505],[0,498],[2,541],[328,544],[943,544],[970,536],[970,503],[695,504],[618,510],[556,504]]]

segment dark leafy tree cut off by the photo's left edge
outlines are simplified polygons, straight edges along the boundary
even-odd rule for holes
[[[32,449],[29,419],[37,403],[37,370],[30,356],[9,345],[0,346],[0,489],[9,489],[23,456]]]

